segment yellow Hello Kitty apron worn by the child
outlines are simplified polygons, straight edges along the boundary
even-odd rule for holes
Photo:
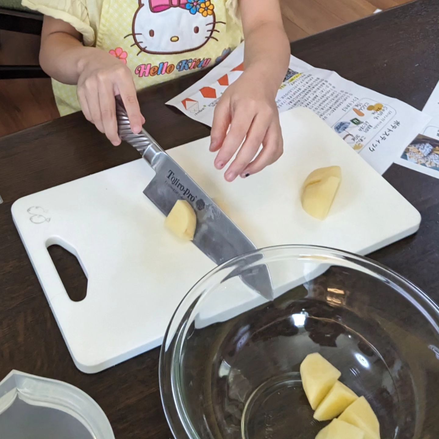
[[[218,63],[241,40],[226,0],[104,0],[96,47],[130,68],[139,91]],[[76,86],[52,83],[60,114],[79,111]]]

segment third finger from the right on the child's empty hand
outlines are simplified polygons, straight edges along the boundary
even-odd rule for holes
[[[217,169],[223,169],[230,158],[233,157],[236,150],[241,146],[250,128],[253,117],[254,113],[246,111],[245,108],[236,109],[235,116],[230,122],[230,130],[215,158],[215,167]]]

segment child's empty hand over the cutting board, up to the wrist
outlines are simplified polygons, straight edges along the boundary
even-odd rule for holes
[[[257,173],[283,153],[275,95],[264,87],[260,75],[250,71],[243,72],[216,104],[210,151],[219,150],[215,159],[217,169],[227,165],[244,139],[224,175],[227,181]],[[261,144],[263,148],[254,158]]]

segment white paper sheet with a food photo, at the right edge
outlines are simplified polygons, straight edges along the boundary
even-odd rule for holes
[[[395,163],[439,178],[439,83],[436,84],[422,112],[432,116],[432,119]]]

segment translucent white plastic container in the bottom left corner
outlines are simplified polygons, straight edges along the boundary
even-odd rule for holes
[[[62,381],[12,371],[0,382],[1,439],[114,439],[101,407]]]

